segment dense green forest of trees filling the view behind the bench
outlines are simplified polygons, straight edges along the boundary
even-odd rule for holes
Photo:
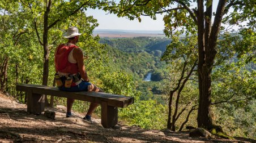
[[[215,135],[224,131],[255,138],[255,2],[219,1],[215,12],[212,1],[195,3],[1,1],[0,90],[25,103],[16,84],[54,86],[54,51],[66,42],[65,30],[76,26],[83,33],[78,46],[90,81],[105,92],[135,99],[120,109],[123,122],[172,131],[203,127]],[[92,34],[99,24],[86,15],[87,8],[138,21],[142,15],[163,14],[166,38],[100,38]],[[234,25],[239,28],[232,30]],[[144,81],[148,73],[151,81]],[[45,103],[65,105],[66,99],[48,97]],[[73,109],[87,108],[87,102],[75,101]]]

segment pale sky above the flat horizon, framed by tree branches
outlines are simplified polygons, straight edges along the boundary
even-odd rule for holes
[[[196,6],[196,3],[193,3]],[[213,10],[216,10],[217,2],[213,3]],[[157,15],[156,20],[151,19],[149,16],[141,16],[141,23],[137,19],[129,20],[125,17],[117,17],[114,14],[107,14],[103,10],[88,9],[86,14],[93,16],[98,20],[99,26],[95,29],[110,29],[110,30],[163,30],[164,29],[164,15]]]

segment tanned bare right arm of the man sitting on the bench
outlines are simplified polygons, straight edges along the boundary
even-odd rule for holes
[[[84,79],[84,81],[88,81],[89,78],[84,67],[84,56],[82,50],[80,48],[74,48],[73,57],[78,62],[78,71],[80,72],[81,77]]]

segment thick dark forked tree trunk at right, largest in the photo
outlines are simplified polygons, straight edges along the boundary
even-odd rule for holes
[[[198,0],[198,80],[199,80],[199,106],[198,127],[211,129],[211,72],[216,55],[217,36],[224,15],[227,0],[220,0],[217,5],[214,23],[211,26],[212,6],[206,8],[204,15],[204,1]],[[210,1],[207,1],[210,2]],[[211,3],[212,4],[212,3]],[[206,23],[204,27],[204,18]]]

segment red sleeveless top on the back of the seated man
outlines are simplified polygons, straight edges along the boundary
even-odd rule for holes
[[[69,60],[69,55],[74,48],[78,48],[78,46],[75,46],[74,44],[60,44],[57,47],[57,51],[54,55],[54,62],[55,67],[58,72],[61,73],[69,73],[69,74],[77,74],[78,73],[78,64],[77,62],[72,63]],[[72,53],[71,53],[72,55]],[[70,56],[71,59],[71,56]],[[73,60],[74,57],[73,57]]]

